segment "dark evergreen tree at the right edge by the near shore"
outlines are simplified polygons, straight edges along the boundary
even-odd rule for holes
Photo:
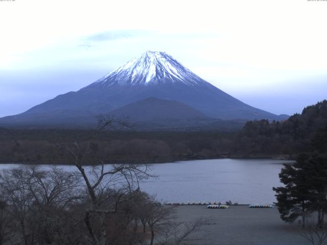
[[[294,164],[284,164],[279,174],[284,187],[274,187],[276,206],[285,222],[293,222],[317,212],[318,226],[322,226],[327,212],[327,155],[302,154]]]

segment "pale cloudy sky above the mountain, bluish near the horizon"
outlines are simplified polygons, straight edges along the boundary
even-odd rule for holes
[[[251,106],[327,99],[327,1],[0,1],[0,117],[167,52]]]

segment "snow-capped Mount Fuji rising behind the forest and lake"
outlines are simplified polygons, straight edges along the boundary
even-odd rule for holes
[[[147,98],[152,99],[145,100]],[[154,100],[156,103],[153,103]],[[136,103],[139,101],[143,102]],[[150,111],[158,110],[168,120],[287,118],[237,100],[204,81],[165,52],[147,51],[140,58],[127,62],[76,92],[58,95],[24,113],[0,118],[0,125],[82,126],[93,124],[100,113],[120,115],[129,111],[126,108],[137,111],[138,121],[149,120]],[[159,118],[157,114],[156,118]],[[184,115],[184,118],[176,118],[176,115]]]

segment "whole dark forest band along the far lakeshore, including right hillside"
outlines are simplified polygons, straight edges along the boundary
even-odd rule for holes
[[[254,120],[238,132],[107,131],[92,143],[86,161],[156,163],[222,157],[294,158],[327,132],[327,101],[285,121]],[[94,130],[0,128],[0,162],[70,163],[56,144],[86,144]],[[327,137],[324,137],[327,138]],[[321,140],[319,141],[321,142]]]

